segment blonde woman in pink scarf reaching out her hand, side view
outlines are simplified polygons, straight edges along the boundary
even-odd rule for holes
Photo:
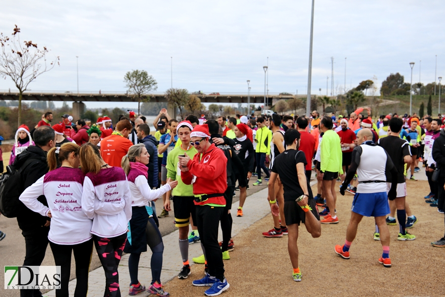
[[[153,252],[151,256],[151,286],[148,292],[157,296],[169,296],[164,292],[161,284],[162,254],[164,244],[158,226],[153,218],[151,201],[161,197],[167,191],[171,191],[177,185],[177,181],[171,181],[159,189],[152,190],[148,186],[148,161],[150,155],[144,144],[130,147],[128,154],[122,158],[121,166],[128,176],[130,193],[132,196],[132,219],[129,223],[127,244],[124,252],[130,253],[128,268],[130,270],[129,295],[136,295],[145,291],[137,279],[140,253],[147,251],[147,244]]]

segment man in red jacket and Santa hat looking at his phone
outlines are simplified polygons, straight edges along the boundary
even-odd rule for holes
[[[227,189],[227,158],[221,149],[209,142],[206,124],[195,126],[190,140],[198,153],[192,160],[186,154],[179,156],[181,179],[186,185],[193,184],[196,224],[208,265],[206,276],[193,281],[193,286],[212,286],[205,295],[216,296],[229,288],[224,278],[223,253],[218,244],[218,227],[225,206],[223,193]]]

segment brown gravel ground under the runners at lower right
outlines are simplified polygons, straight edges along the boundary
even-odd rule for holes
[[[316,191],[315,187],[312,189]],[[230,288],[222,296],[445,296],[441,273],[445,270],[445,248],[430,245],[444,236],[444,215],[424,202],[423,196],[429,193],[426,181],[408,181],[407,190],[408,202],[419,220],[409,232],[417,238],[397,241],[399,227],[389,226],[391,268],[378,263],[382,247],[373,240],[372,218],[361,221],[351,246],[351,259],[334,253],[336,244],[344,244],[353,199],[350,194],[339,195],[338,224],[322,224],[317,239],[300,226],[302,282],[291,278],[287,237],[261,236],[271,227],[268,215],[234,238],[235,250],[230,252],[230,260],[224,261]],[[203,276],[203,270],[203,265],[192,265],[188,279],[174,279],[165,284],[165,290],[171,296],[203,296],[205,288],[191,284]]]

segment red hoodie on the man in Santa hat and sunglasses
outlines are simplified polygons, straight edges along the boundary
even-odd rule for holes
[[[186,185],[192,184],[193,177],[196,177],[193,183],[194,195],[223,194],[227,189],[227,158],[223,150],[218,149],[212,144],[205,153],[197,153],[192,160],[188,161],[188,171],[181,172],[181,180]],[[196,202],[196,205],[216,204],[225,205],[223,196],[208,198],[202,202]]]

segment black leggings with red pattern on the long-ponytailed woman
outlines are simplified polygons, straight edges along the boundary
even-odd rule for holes
[[[93,240],[100,263],[105,271],[106,280],[103,296],[121,297],[117,270],[127,242],[127,233],[112,238],[101,238],[93,235]]]

